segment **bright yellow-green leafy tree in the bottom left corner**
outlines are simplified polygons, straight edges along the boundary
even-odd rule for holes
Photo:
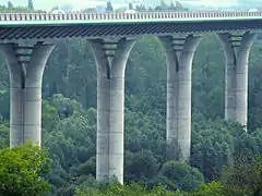
[[[40,196],[50,185],[44,176],[50,171],[47,150],[26,144],[0,151],[0,195]]]

